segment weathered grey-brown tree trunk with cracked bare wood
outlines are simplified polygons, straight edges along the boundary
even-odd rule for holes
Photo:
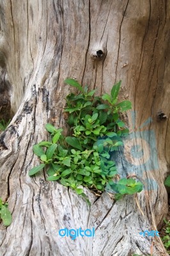
[[[167,214],[170,1],[0,5],[0,82],[10,99],[8,114],[15,113],[0,138],[0,197],[13,216],[10,227],[1,224],[0,255],[168,255],[159,237],[139,232],[157,230]],[[47,140],[45,124],[66,127],[66,77],[98,95],[122,80],[120,99],[131,100],[135,114],[124,116],[130,136],[116,159],[122,177],[136,175],[143,182],[136,198],[140,207],[134,196],[115,202],[107,191],[97,198],[84,189],[89,208],[72,189],[47,182],[45,172],[28,176],[39,163],[33,145]],[[95,227],[95,237],[60,237],[65,227]]]

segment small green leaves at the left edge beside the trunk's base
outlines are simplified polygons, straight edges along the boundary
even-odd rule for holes
[[[8,210],[8,203],[3,202],[0,198],[0,218],[3,221],[4,226],[10,226],[12,223],[12,214]]]

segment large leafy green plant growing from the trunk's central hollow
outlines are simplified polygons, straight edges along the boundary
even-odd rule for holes
[[[64,186],[75,190],[86,198],[82,186],[93,192],[102,193],[105,186],[114,186],[116,166],[111,160],[111,152],[123,145],[122,138],[128,133],[121,113],[131,108],[131,102],[118,103],[121,82],[112,87],[111,95],[94,96],[95,90],[88,92],[74,79],[66,79],[66,84],[79,89],[79,95],[70,93],[66,97],[65,112],[68,113],[70,136],[63,136],[63,129],[51,124],[45,125],[50,133],[49,141],[33,146],[42,164],[32,168],[29,175],[35,175],[47,166],[47,180],[59,180]],[[118,193],[132,194],[142,190],[142,184],[135,180],[121,179]],[[121,185],[121,189],[120,189]],[[117,185],[116,185],[117,188]],[[117,191],[116,190],[116,191]],[[87,198],[86,198],[87,199]]]

